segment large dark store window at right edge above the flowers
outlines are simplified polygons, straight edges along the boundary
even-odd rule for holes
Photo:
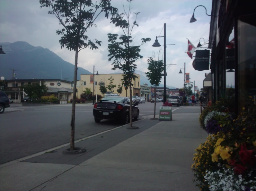
[[[238,104],[245,107],[247,96],[256,95],[256,14],[238,18]]]

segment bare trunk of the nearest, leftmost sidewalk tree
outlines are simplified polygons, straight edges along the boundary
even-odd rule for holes
[[[70,133],[70,150],[75,148],[75,112],[76,112],[76,90],[77,90],[77,60],[78,60],[78,47],[76,48],[75,56],[75,69],[74,69],[74,87],[73,87],[73,101],[72,101],[72,113],[71,113],[71,133]]]

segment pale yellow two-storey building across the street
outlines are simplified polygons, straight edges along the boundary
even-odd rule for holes
[[[136,78],[135,82],[134,80],[132,83],[134,86],[132,87],[132,95],[133,96],[140,96],[140,75],[135,74],[138,78]],[[110,77],[112,77],[113,80],[113,85],[116,85],[116,87],[112,90],[114,93],[117,93],[118,85],[122,86],[122,81],[123,79],[122,74],[99,74],[99,75],[94,75],[94,81],[96,86],[94,86],[94,94],[101,94],[99,91],[99,86],[100,85],[105,85],[106,87],[109,85],[110,80],[108,80]],[[81,93],[85,91],[86,88],[90,88],[91,92],[93,93],[93,74],[81,74],[80,75],[80,80],[77,81],[77,97],[80,98]],[[109,91],[109,90],[107,90]],[[129,96],[130,90],[127,90],[127,96]],[[120,96],[126,97],[126,90],[123,87],[123,91],[120,94]]]

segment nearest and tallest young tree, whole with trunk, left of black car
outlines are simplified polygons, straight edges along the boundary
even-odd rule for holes
[[[61,48],[68,48],[70,51],[75,51],[74,63],[74,88],[73,100],[76,100],[77,89],[77,62],[78,53],[80,50],[89,47],[90,49],[98,49],[97,45],[101,45],[101,41],[95,39],[90,40],[85,32],[90,27],[96,27],[94,21],[104,12],[108,18],[109,13],[117,13],[117,9],[111,6],[111,0],[39,0],[42,7],[50,8],[48,14],[53,14],[62,26],[62,29],[56,30],[56,33],[61,35],[59,40]],[[75,111],[76,102],[72,102],[71,112],[71,136],[70,150],[74,150],[74,132],[75,132]]]

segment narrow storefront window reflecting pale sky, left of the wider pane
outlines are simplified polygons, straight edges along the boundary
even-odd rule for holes
[[[235,34],[234,27],[226,41],[226,99],[235,101]]]

